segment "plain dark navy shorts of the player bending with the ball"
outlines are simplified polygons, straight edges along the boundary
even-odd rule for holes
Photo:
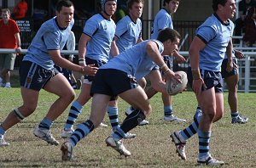
[[[135,77],[121,70],[101,69],[98,70],[90,88],[90,96],[94,93],[110,96],[115,100],[119,93],[125,92],[138,86]]]

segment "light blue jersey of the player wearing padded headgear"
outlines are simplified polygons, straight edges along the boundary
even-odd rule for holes
[[[115,23],[102,14],[95,14],[84,25],[83,33],[90,36],[87,43],[86,57],[108,62],[111,43],[115,31]]]

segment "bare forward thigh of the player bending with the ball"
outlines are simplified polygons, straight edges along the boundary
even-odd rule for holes
[[[148,101],[147,94],[142,87],[136,87],[119,94],[128,104],[136,109],[142,109],[146,113],[150,113],[151,106]]]

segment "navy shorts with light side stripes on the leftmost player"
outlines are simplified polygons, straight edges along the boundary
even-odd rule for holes
[[[46,70],[42,66],[30,61],[22,61],[20,64],[20,87],[40,91],[46,83],[59,73],[55,68]]]

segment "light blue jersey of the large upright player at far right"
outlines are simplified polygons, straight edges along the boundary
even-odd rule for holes
[[[221,71],[221,64],[233,30],[233,22],[229,20],[228,24],[224,24],[217,14],[212,14],[197,28],[196,36],[207,44],[200,52],[199,66],[202,70]]]

